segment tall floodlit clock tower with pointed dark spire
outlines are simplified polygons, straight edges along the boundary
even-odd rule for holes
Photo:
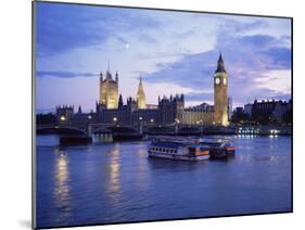
[[[219,54],[217,69],[214,75],[214,122],[215,125],[227,126],[228,122],[228,76],[225,63]]]

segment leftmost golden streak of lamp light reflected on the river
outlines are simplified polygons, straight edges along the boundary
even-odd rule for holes
[[[54,150],[56,154],[54,164],[54,189],[53,197],[55,206],[62,209],[62,216],[56,221],[65,222],[71,217],[71,188],[68,186],[68,157],[64,151]]]

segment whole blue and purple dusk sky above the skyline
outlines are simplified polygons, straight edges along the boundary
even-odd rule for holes
[[[124,101],[142,76],[148,104],[186,94],[214,104],[219,52],[233,105],[291,97],[291,21],[36,2],[38,112],[93,110],[99,73],[118,72]]]

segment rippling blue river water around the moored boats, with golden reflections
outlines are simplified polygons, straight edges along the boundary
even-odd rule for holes
[[[228,161],[149,158],[149,141],[37,137],[37,227],[291,212],[291,137],[228,137]]]

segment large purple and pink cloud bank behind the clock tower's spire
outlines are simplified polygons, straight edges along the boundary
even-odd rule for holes
[[[251,28],[237,25],[234,28],[242,30]],[[229,93],[236,103],[255,98],[287,97],[291,92],[291,48],[283,47],[281,39],[270,35],[242,36],[219,31],[213,50],[186,54],[174,63],[160,63],[156,72],[145,75],[145,80],[175,82],[193,90],[213,89],[213,76],[221,51],[229,75]],[[212,101],[213,93],[189,93],[186,100]]]

